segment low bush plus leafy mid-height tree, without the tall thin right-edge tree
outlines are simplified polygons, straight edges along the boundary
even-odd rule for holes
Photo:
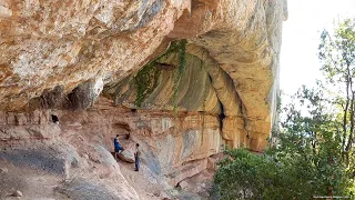
[[[338,123],[326,111],[320,90],[303,88],[295,97],[308,112],[294,103],[278,146],[255,154],[244,149],[226,150],[214,177],[221,199],[312,199],[313,196],[348,194],[351,179],[342,162]]]

